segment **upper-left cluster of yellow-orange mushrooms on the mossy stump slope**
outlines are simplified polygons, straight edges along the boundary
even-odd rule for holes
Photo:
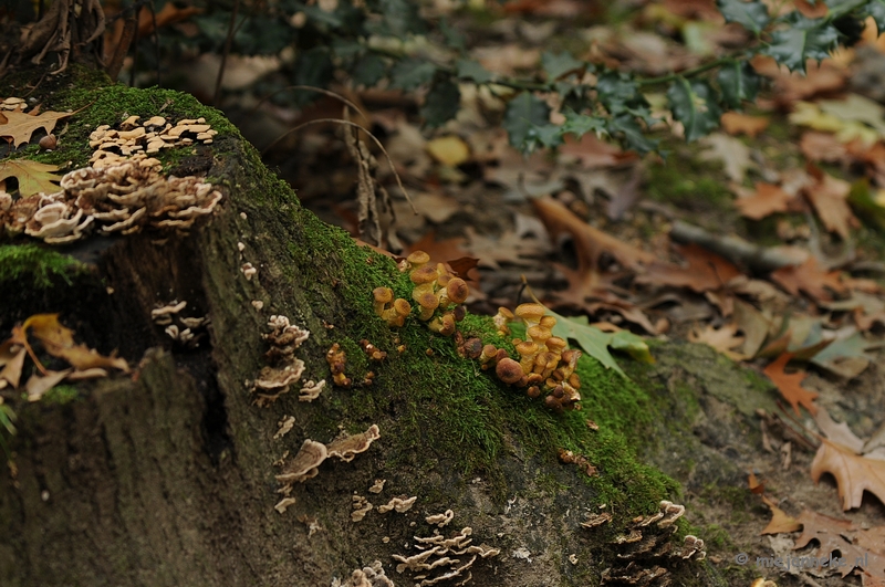
[[[426,322],[427,327],[444,336],[455,334],[457,323],[467,313],[461,305],[470,293],[467,283],[452,275],[442,263],[433,265],[430,255],[424,251],[415,251],[406,258],[409,280],[415,287],[412,300],[418,305],[418,319]],[[375,287],[375,313],[391,326],[403,326],[412,313],[412,304],[402,297],[394,300],[389,287]]]

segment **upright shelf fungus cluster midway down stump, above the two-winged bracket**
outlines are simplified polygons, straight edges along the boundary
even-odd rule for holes
[[[304,361],[295,357],[295,350],[311,335],[305,331],[289,322],[282,315],[273,315],[268,321],[271,332],[262,335],[270,343],[270,349],[264,354],[270,365],[264,366],[258,375],[258,379],[252,381],[251,391],[256,395],[256,403],[266,407],[289,392],[289,388],[301,379],[304,373]],[[323,388],[321,384],[309,385],[301,390],[299,399],[310,401],[320,395]],[[316,389],[319,387],[319,389]]]

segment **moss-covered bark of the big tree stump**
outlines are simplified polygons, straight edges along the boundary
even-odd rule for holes
[[[15,401],[14,467],[0,472],[0,584],[320,586],[379,559],[397,585],[408,585],[412,575],[397,575],[391,556],[414,554],[404,545],[431,534],[425,515],[451,509],[449,528],[471,526],[476,544],[501,549],[475,566],[472,585],[596,585],[617,563],[612,539],[625,524],[653,513],[662,499],[685,496],[676,479],[689,488],[715,483],[714,464],[722,475],[739,474],[701,446],[693,427],[704,426],[707,403],[743,407],[741,394],[766,390],[711,352],[659,347],[656,366],[629,366],[637,382],[584,358],[585,409],[558,417],[458,357],[451,339],[414,321],[399,332],[382,323],[372,289],[388,285],[407,296],[406,277],[304,210],[218,113],[190,96],[102,86],[80,75],[34,94],[44,108],[86,106],[61,134],[60,151],[28,147],[14,156],[77,167],[98,124],[160,109],[171,118],[205,116],[221,132],[214,145],[169,153],[165,163],[206,169],[226,198],[188,235],[93,237],[61,251],[85,271],[65,269],[54,255],[46,266],[35,258],[30,273],[48,275],[39,291],[30,289],[28,272],[0,271],[9,301],[0,327],[60,312],[91,346],[117,348],[138,365],[133,377],[79,385],[76,394],[58,396],[63,401]],[[0,95],[20,93],[22,84],[23,77],[8,82]],[[22,244],[7,242],[0,251],[11,256]],[[258,269],[251,281],[243,262]],[[150,310],[171,300],[210,317],[197,348],[173,346],[152,324]],[[261,334],[272,314],[311,331],[298,352],[305,379],[329,379],[325,352],[339,343],[356,385],[327,388],[311,403],[293,391],[269,408],[253,406],[249,381],[263,365]],[[462,328],[507,344],[489,319],[471,317]],[[357,345],[363,338],[388,358],[369,364]],[[361,382],[369,370],[374,381]],[[745,409],[725,411],[739,426],[749,421]],[[274,439],[285,416],[294,417],[294,428]],[[366,453],[351,463],[326,461],[319,476],[295,488],[288,512],[273,510],[273,462],[284,452],[293,455],[305,438],[329,442],[341,429],[373,423],[382,438]],[[560,463],[560,448],[586,455],[600,474]],[[379,495],[367,493],[375,479],[387,480]],[[373,510],[353,523],[355,493],[376,507],[399,494],[418,500],[405,514]],[[612,512],[614,520],[582,528],[590,512]],[[323,530],[309,536],[300,515]],[[680,534],[689,530],[702,537],[702,525],[683,524]],[[686,585],[725,581],[709,562],[670,570]]]

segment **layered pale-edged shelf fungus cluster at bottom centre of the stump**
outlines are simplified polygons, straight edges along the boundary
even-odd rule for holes
[[[410,570],[416,587],[437,584],[467,585],[472,578],[473,564],[478,559],[491,558],[501,554],[498,548],[487,544],[472,545],[472,528],[467,526],[447,538],[441,534],[420,537],[415,536],[417,553],[393,555],[397,573]],[[454,581],[454,583],[448,583]]]

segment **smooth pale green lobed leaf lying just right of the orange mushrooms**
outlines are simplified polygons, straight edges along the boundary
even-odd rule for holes
[[[574,340],[584,353],[602,363],[605,368],[614,369],[625,379],[629,378],[617,365],[615,358],[608,352],[608,347],[623,350],[634,359],[643,363],[654,363],[655,360],[645,340],[631,332],[604,333],[595,326],[590,326],[586,316],[566,318],[550,310],[548,310],[548,313],[556,318],[556,324],[552,331],[553,336],[559,336],[565,340]]]

